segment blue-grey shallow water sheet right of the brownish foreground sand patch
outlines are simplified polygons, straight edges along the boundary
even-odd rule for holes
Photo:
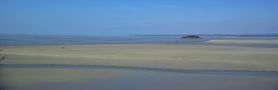
[[[38,88],[51,87],[52,89],[54,87],[54,89],[61,90],[277,90],[277,85],[277,82],[261,78],[160,73],[158,75],[87,79],[80,83],[49,84],[38,86]]]

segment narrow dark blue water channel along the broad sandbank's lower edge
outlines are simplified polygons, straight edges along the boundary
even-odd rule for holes
[[[112,66],[112,65],[0,64],[0,68],[109,69],[109,70],[135,70],[135,71],[152,71],[152,72],[229,75],[229,76],[261,76],[261,77],[278,78],[278,72],[274,72],[274,71],[272,72],[272,71],[247,71],[247,70],[191,70],[191,69]]]

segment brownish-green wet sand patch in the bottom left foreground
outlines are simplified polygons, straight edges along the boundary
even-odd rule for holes
[[[1,81],[10,87],[29,87],[41,83],[78,82],[82,79],[125,76],[118,70],[61,68],[2,68]]]

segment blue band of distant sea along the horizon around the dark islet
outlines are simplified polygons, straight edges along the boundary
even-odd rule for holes
[[[212,39],[278,40],[278,34],[199,34],[202,39],[181,39],[183,35],[73,36],[0,35],[0,45],[98,45],[98,44],[199,44]],[[278,45],[274,45],[277,46]]]

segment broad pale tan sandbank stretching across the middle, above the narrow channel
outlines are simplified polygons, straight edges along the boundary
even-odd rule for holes
[[[1,46],[0,48],[8,55],[7,59],[1,62],[3,64],[278,71],[278,48],[159,44]]]

